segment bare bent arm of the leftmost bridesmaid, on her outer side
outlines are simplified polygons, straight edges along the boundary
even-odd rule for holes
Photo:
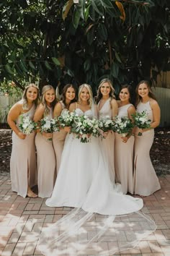
[[[19,131],[19,128],[15,124],[15,120],[17,120],[19,114],[22,113],[22,103],[15,103],[14,106],[9,110],[9,114],[7,116],[7,122],[9,124],[9,127],[16,133],[16,135],[24,140],[26,135],[24,135],[21,131]]]

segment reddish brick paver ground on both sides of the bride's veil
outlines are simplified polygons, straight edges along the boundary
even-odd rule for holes
[[[138,247],[120,255],[170,256],[170,175],[161,176],[159,180],[161,190],[143,197],[142,209],[156,222],[156,231]],[[37,240],[42,227],[55,223],[69,210],[48,208],[41,198],[19,197],[11,190],[9,175],[0,176],[0,255],[41,255]]]

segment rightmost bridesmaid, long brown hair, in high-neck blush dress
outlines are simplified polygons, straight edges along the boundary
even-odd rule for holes
[[[136,111],[139,113],[146,111],[148,119],[151,119],[151,129],[137,129],[135,133],[134,193],[148,196],[161,189],[149,155],[153,144],[154,128],[158,127],[161,111],[148,81],[139,82],[136,95]],[[143,135],[138,136],[138,132],[142,132]]]

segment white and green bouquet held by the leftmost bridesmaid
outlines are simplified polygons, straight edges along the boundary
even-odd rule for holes
[[[35,131],[37,124],[35,121],[30,119],[30,116],[22,116],[21,123],[19,124],[19,129],[24,135],[30,135],[33,131]]]

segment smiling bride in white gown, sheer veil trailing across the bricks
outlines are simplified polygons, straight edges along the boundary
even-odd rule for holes
[[[89,119],[97,118],[89,85],[79,87],[78,102],[72,103],[69,110]],[[145,234],[155,229],[145,216],[140,213],[134,216],[134,212],[143,208],[143,200],[123,195],[117,189],[120,186],[111,182],[109,167],[102,155],[99,138],[91,137],[90,142],[82,143],[73,134],[67,135],[53,194],[46,205],[76,209],[42,231],[39,249],[44,255],[81,255],[83,252],[86,255],[89,249],[91,255],[110,255],[134,247],[144,236],[143,227]],[[126,216],[128,213],[133,213],[131,219]],[[138,228],[141,220],[143,227]],[[120,236],[123,226],[133,232],[130,236],[133,239],[128,242]],[[105,248],[103,242],[108,237]]]

